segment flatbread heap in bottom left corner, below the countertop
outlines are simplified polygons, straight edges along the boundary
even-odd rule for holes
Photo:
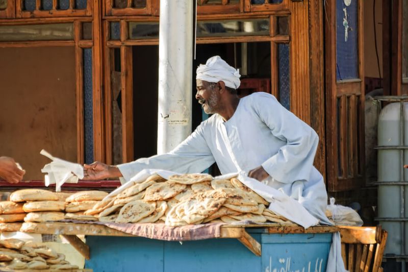
[[[0,240],[0,269],[2,271],[52,269],[78,269],[45,245],[18,239]]]

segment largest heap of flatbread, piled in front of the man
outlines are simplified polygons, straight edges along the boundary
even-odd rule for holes
[[[165,222],[184,226],[207,222],[234,224],[266,221],[293,224],[267,209],[269,203],[238,179],[213,179],[206,174],[152,175],[108,196],[84,214],[117,223]]]

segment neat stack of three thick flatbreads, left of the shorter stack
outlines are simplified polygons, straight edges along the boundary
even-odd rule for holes
[[[10,201],[21,205],[27,213],[26,222],[45,222],[64,219],[65,201],[52,191],[42,189],[22,189],[10,194]]]

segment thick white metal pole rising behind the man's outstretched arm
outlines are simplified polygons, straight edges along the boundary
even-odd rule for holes
[[[157,153],[191,133],[193,1],[161,0]]]

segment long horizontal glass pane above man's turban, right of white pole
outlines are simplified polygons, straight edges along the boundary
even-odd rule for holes
[[[197,37],[269,36],[269,19],[198,21]]]

